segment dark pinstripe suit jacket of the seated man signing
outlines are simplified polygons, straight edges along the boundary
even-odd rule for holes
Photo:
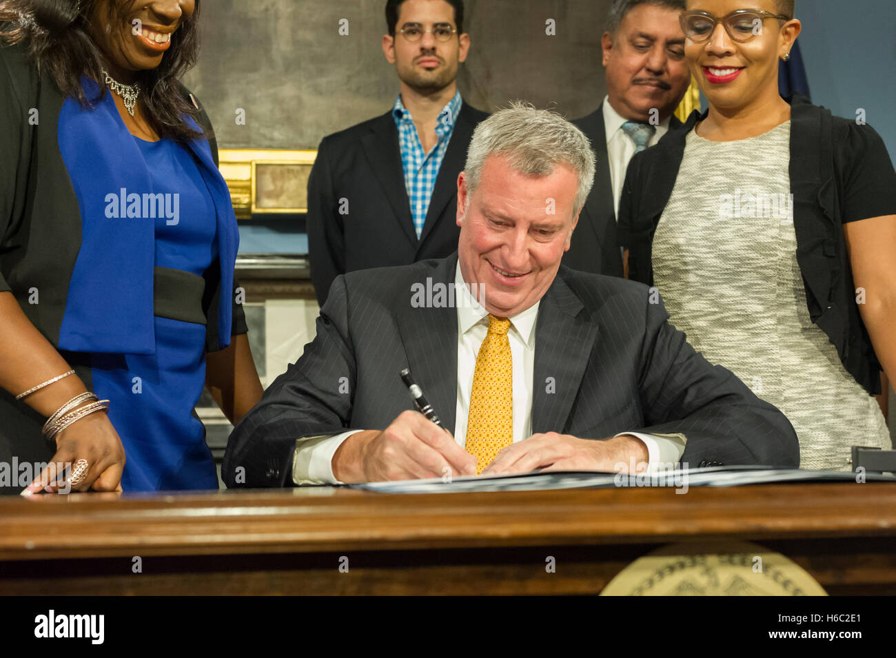
[[[411,287],[427,278],[452,285],[456,263],[454,253],[336,278],[314,341],[230,435],[224,482],[289,486],[298,438],[385,428],[413,408],[399,377],[405,367],[452,429],[457,312],[416,308]],[[538,308],[532,432],[681,432],[690,466],[797,466],[784,414],[697,354],[652,301],[642,284],[560,268]]]

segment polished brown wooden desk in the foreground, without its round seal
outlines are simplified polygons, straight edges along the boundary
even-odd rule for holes
[[[714,539],[780,551],[829,594],[894,594],[896,484],[16,497],[0,594],[597,594],[648,551]]]

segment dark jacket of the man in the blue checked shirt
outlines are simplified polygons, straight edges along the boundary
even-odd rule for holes
[[[457,176],[473,130],[487,118],[461,105],[420,238],[414,230],[392,110],[323,138],[308,178],[308,256],[317,301],[356,269],[444,258],[457,249]],[[340,214],[342,199],[348,214]]]

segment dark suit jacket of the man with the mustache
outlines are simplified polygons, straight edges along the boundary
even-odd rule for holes
[[[616,211],[613,204],[613,184],[610,180],[607,131],[604,127],[604,104],[590,115],[573,121],[591,141],[597,154],[594,185],[579,215],[579,224],[573,232],[569,251],[564,253],[563,264],[583,272],[622,277],[622,255],[616,239]],[[682,123],[672,116],[669,132]],[[667,133],[668,134],[668,133]],[[663,139],[665,139],[665,135]]]

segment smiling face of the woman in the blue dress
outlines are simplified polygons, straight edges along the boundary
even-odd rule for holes
[[[99,0],[90,14],[90,36],[110,73],[132,79],[161,64],[177,28],[195,8],[196,0]]]

